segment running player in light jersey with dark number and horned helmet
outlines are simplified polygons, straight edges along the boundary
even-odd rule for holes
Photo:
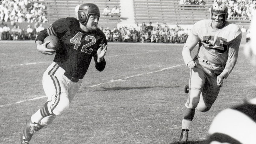
[[[202,112],[210,110],[223,79],[228,78],[238,57],[242,33],[236,24],[227,21],[227,6],[222,2],[213,3],[210,15],[210,20],[194,24],[182,50],[184,62],[191,69],[180,136],[183,143],[187,142],[195,108]],[[191,51],[198,42],[197,55],[193,59]]]

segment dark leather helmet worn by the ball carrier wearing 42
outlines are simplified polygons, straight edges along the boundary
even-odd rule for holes
[[[98,17],[100,18],[100,10],[98,6],[92,3],[85,3],[80,5],[77,13],[79,21],[84,26],[86,26],[91,14],[98,15]]]

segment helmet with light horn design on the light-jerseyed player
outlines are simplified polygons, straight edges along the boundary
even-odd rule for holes
[[[227,21],[228,19],[228,7],[222,3],[222,2],[214,2],[210,14],[211,14],[211,19],[213,18],[213,13],[215,14],[222,14],[224,18],[224,22]]]

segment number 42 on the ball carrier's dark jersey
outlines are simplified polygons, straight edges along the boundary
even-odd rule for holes
[[[72,37],[72,39],[70,39],[70,43],[74,43],[75,46],[73,47],[75,50],[77,50],[78,46],[81,45],[81,39],[82,39],[82,33],[81,32],[78,32],[74,37]],[[92,52],[92,48],[89,48],[90,46],[94,45],[96,43],[96,39],[94,36],[86,36],[85,37],[85,40],[86,41],[89,41],[91,40],[91,42],[85,44],[82,46],[82,49],[81,49],[81,52],[84,52],[84,53],[88,53],[88,54],[91,54]]]

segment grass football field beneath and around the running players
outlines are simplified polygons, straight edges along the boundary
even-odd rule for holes
[[[34,41],[0,42],[0,143],[18,144],[27,117],[43,106],[43,72],[53,56]],[[174,144],[181,132],[189,69],[183,44],[109,43],[103,72],[94,62],[69,110],[35,133],[31,144]],[[190,144],[201,143],[216,114],[255,95],[255,68],[240,48],[212,109],[196,110]]]

